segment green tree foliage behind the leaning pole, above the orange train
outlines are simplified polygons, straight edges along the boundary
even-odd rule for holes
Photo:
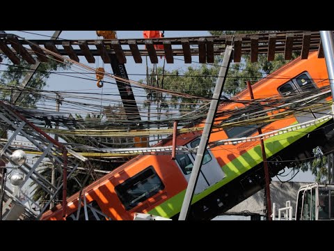
[[[259,31],[209,31],[213,36],[221,36],[223,34],[240,34],[255,33]],[[267,32],[267,31],[261,31]],[[297,55],[293,55],[293,59]],[[202,97],[212,97],[218,76],[222,56],[215,56],[213,64],[202,63],[200,66],[188,67],[185,71],[181,70],[164,70],[158,67],[150,69],[150,75],[146,82],[148,85],[161,87],[168,90],[180,91],[186,94]],[[246,80],[252,83],[257,82],[265,75],[272,73],[289,61],[284,60],[283,54],[276,54],[274,61],[267,61],[267,55],[260,54],[257,63],[250,63],[250,56],[242,56],[240,63],[231,63],[228,75],[225,81],[224,94],[226,96],[234,96],[234,94],[243,90],[246,86]],[[164,75],[162,74],[164,72]],[[156,77],[158,75],[158,77]],[[143,79],[141,80],[143,82]],[[166,94],[159,96],[158,93],[147,91],[150,93],[152,101],[160,100],[163,105],[162,109],[166,112],[172,105],[174,108],[180,109],[180,114],[186,113],[198,107],[202,100],[185,99],[180,97],[170,97]],[[169,100],[169,101],[167,101]]]

